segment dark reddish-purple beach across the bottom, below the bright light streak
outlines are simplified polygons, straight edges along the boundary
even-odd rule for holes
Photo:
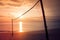
[[[49,30],[49,40],[60,40],[60,29]],[[46,40],[45,31],[0,32],[0,40]]]

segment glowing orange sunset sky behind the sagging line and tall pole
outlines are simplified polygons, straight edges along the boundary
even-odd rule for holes
[[[0,1],[0,16],[10,16],[16,18],[30,9],[37,0],[1,0]],[[9,5],[11,4],[11,5]],[[58,16],[59,13],[59,1],[57,0],[44,0],[44,9],[47,16]],[[17,6],[18,5],[18,6]],[[20,15],[19,15],[20,14]],[[30,12],[27,17],[34,16],[39,17],[42,15],[40,4],[38,3]],[[24,17],[26,17],[24,15]]]

